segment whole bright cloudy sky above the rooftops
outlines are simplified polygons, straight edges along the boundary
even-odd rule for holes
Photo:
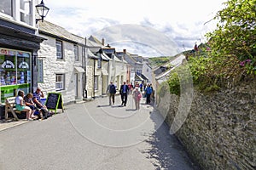
[[[216,22],[204,23],[224,8],[224,2],[226,0],[44,0],[50,8],[45,20],[81,37],[105,38],[105,42],[119,51],[126,48],[131,53],[148,56],[176,54],[192,49],[195,42],[206,42],[204,35],[215,29]],[[166,42],[160,37],[166,37]],[[172,48],[160,48],[159,42]],[[140,51],[142,44],[148,49]],[[166,52],[158,53],[163,48]]]

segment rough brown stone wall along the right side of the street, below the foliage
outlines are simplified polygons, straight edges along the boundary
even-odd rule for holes
[[[179,97],[160,88],[157,109],[172,126]],[[256,81],[201,94],[175,133],[202,169],[256,169]]]

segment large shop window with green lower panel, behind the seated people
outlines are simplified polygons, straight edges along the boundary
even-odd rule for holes
[[[1,102],[17,91],[29,92],[31,86],[31,53],[0,48]]]

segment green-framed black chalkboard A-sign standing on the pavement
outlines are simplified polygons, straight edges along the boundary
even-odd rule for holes
[[[57,109],[62,109],[62,112],[64,110],[62,97],[60,93],[48,93],[45,105],[49,111],[55,111],[55,113]]]

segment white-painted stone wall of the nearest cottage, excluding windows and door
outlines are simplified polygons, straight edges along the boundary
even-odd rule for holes
[[[40,35],[45,37],[44,35]],[[73,43],[63,42],[64,57],[63,59],[56,58],[55,38],[45,37],[40,44],[40,50],[38,51],[38,59],[43,59],[44,67],[44,82],[38,82],[38,87],[46,93],[55,92],[55,74],[65,74],[65,89],[59,91],[62,94],[64,104],[75,101],[76,94],[76,82],[74,70],[75,66],[82,66],[81,56],[82,47],[79,47],[79,61],[75,61],[73,54]],[[78,89],[79,95],[77,99],[83,98],[83,73],[78,73]]]

